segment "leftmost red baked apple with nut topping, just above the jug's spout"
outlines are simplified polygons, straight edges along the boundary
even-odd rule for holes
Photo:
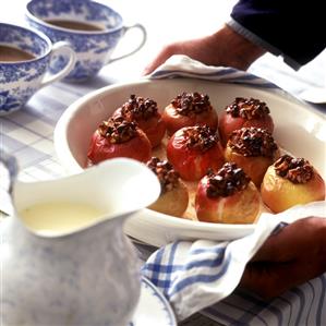
[[[129,157],[146,162],[152,156],[152,146],[136,122],[122,117],[104,121],[92,136],[87,157],[98,164],[113,157]]]

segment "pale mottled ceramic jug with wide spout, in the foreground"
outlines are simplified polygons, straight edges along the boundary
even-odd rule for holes
[[[149,169],[124,158],[59,180],[15,182],[15,214],[0,225],[1,325],[128,325],[141,276],[123,222],[159,191]],[[63,202],[104,215],[55,234],[28,228],[20,216],[36,204]]]

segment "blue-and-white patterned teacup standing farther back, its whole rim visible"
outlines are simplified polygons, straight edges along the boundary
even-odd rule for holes
[[[76,52],[77,62],[65,77],[67,81],[87,80],[96,75],[105,64],[136,52],[146,41],[144,26],[141,24],[124,26],[118,12],[95,1],[32,0],[26,9],[27,21],[33,27],[48,35],[52,41],[69,41]],[[131,52],[111,59],[119,40],[131,28],[141,29],[143,36],[141,44]],[[62,61],[58,60],[55,71],[64,63]]]

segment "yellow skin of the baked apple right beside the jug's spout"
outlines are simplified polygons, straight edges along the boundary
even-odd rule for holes
[[[177,188],[161,194],[148,208],[167,215],[182,217],[188,207],[188,189],[185,184],[180,181]]]

